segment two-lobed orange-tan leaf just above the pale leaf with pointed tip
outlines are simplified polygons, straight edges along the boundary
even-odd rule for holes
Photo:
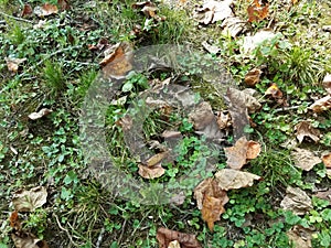
[[[226,164],[235,170],[239,170],[260,153],[260,144],[255,141],[247,141],[246,137],[238,139],[234,147],[224,148],[227,158]]]

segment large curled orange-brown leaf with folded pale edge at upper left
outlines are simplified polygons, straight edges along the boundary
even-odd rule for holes
[[[105,52],[105,58],[99,63],[104,76],[124,78],[132,69],[132,47],[129,43],[121,42]]]

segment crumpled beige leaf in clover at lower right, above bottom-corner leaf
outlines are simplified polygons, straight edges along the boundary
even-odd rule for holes
[[[286,196],[280,203],[280,206],[285,211],[291,211],[297,215],[305,215],[307,212],[312,209],[311,200],[305,191],[299,187],[288,186],[286,188]]]

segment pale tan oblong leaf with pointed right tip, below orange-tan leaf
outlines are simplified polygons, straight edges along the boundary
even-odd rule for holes
[[[218,186],[224,190],[234,190],[252,186],[254,180],[260,180],[259,175],[233,169],[223,169],[215,174]]]

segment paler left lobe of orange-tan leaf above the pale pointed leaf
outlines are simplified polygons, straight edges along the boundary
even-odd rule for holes
[[[242,137],[233,147],[224,148],[225,157],[227,158],[227,166],[239,170],[246,164],[247,159],[247,140]]]

